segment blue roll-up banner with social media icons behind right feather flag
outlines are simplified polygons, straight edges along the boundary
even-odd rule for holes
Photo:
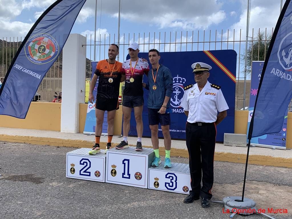
[[[247,134],[249,125],[251,122],[251,116],[253,114],[254,105],[256,102],[256,96],[258,94],[258,86],[260,84],[260,77],[263,71],[264,61],[253,61],[252,62],[252,74],[251,74],[251,94],[249,99],[248,108],[248,123],[247,123]],[[284,123],[279,133],[262,135],[259,137],[251,138],[251,145],[258,147],[269,147],[286,149],[286,138],[287,138],[287,118],[288,118],[288,107],[284,117]]]

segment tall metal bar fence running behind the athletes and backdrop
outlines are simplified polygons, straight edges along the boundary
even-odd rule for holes
[[[248,38],[248,58],[257,61],[265,60],[265,55],[270,42],[270,36],[273,29],[252,29],[251,37]],[[94,54],[93,35],[86,35],[86,78],[90,78],[91,61]],[[118,60],[123,61],[128,54],[127,48],[131,42],[137,42],[140,45],[140,52],[148,52],[149,49],[156,48],[160,52],[175,51],[202,51],[202,50],[223,50],[233,49],[237,52],[237,70],[236,70],[236,98],[235,109],[243,108],[244,98],[244,55],[245,55],[245,33],[239,30],[198,30],[198,31],[180,31],[180,32],[154,32],[154,33],[128,33],[120,34]],[[4,77],[17,48],[21,44],[18,38],[9,38],[0,40],[0,77]],[[107,50],[110,44],[118,43],[117,34],[99,34],[96,41],[96,60],[108,58]],[[254,48],[258,45],[258,48]],[[251,49],[252,48],[252,49]],[[261,53],[261,54],[260,54]],[[263,54],[262,54],[263,53]],[[2,56],[1,56],[2,54]],[[8,58],[7,58],[8,57]],[[196,60],[194,60],[196,61]],[[250,96],[250,72],[246,81],[246,106],[249,104]],[[62,53],[58,60],[48,71],[38,89],[42,101],[52,101],[54,92],[62,90]]]

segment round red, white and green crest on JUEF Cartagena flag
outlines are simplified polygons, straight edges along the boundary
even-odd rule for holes
[[[58,42],[49,34],[36,34],[25,44],[25,55],[35,64],[54,61],[59,54]]]

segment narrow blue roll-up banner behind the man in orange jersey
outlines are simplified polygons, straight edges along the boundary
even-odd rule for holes
[[[91,62],[92,67],[92,74],[91,74],[91,80],[94,75],[96,65],[98,62]],[[86,113],[86,120],[84,125],[84,131],[83,134],[95,134],[95,126],[96,126],[96,117],[95,117],[95,102],[96,102],[96,94],[97,94],[97,86],[98,86],[98,80],[96,81],[96,85],[93,89],[93,96],[94,96],[94,102],[93,104],[91,102],[88,102],[87,105],[87,113]],[[103,117],[103,123],[102,123],[102,135],[107,135],[107,111],[105,111],[105,115]]]

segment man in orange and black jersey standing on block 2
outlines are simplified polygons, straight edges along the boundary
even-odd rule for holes
[[[94,96],[92,92],[96,85],[96,81],[99,78],[95,102],[95,145],[89,152],[91,155],[100,153],[99,143],[105,111],[107,111],[108,124],[107,147],[105,153],[107,150],[112,148],[111,142],[114,134],[114,116],[116,114],[116,109],[119,109],[118,99],[120,82],[125,80],[125,73],[122,69],[122,63],[116,61],[118,54],[119,47],[116,44],[111,44],[108,49],[109,58],[98,62],[95,73],[90,82],[88,101],[93,103]]]

